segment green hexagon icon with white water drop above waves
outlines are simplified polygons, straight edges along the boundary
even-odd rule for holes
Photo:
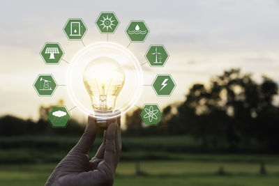
[[[149,28],[143,20],[130,21],[130,24],[126,29],[126,34],[130,39],[130,42],[144,42],[149,34]]]

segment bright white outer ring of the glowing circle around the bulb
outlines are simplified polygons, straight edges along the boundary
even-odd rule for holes
[[[89,115],[93,114],[92,113],[93,109],[88,109],[87,107],[85,107],[84,104],[82,104],[82,102],[80,102],[79,98],[77,98],[77,95],[75,94],[75,91],[74,91],[75,82],[73,82],[72,76],[75,71],[75,65],[80,61],[82,56],[88,54],[88,52],[91,52],[93,50],[98,51],[102,48],[109,49],[109,50],[112,50],[115,52],[119,52],[123,56],[126,56],[128,59],[129,58],[133,59],[133,60],[130,60],[130,62],[133,63],[133,68],[135,71],[134,73],[136,73],[137,78],[136,78],[135,84],[137,84],[137,86],[136,86],[136,91],[133,95],[133,98],[128,102],[128,104],[126,105],[126,107],[124,107],[124,109],[121,109],[121,114],[125,114],[128,110],[130,110],[132,107],[134,107],[135,103],[140,98],[140,94],[142,93],[142,84],[143,84],[142,68],[141,68],[140,63],[137,60],[137,58],[135,57],[135,55],[132,52],[130,52],[130,50],[128,50],[126,47],[123,47],[122,45],[116,44],[114,42],[96,42],[91,45],[87,45],[86,47],[80,49],[80,51],[77,52],[77,54],[75,54],[72,61],[70,61],[70,66],[68,68],[67,77],[66,77],[68,95],[70,96],[70,100],[72,100],[74,102],[74,104],[77,106],[77,108],[80,109],[82,112],[84,112],[84,114],[89,114]],[[108,55],[108,56],[110,56],[110,55]],[[118,114],[118,115],[110,114],[109,116],[107,116],[107,115],[99,116],[98,115],[96,117],[97,118],[115,118],[117,116],[120,116],[121,114]]]

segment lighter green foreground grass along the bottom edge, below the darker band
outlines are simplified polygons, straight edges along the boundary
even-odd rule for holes
[[[56,164],[1,165],[0,185],[44,185]],[[217,171],[223,166],[225,175]],[[114,185],[189,186],[277,186],[279,164],[266,164],[267,175],[259,175],[259,164],[187,161],[140,162],[146,176],[135,175],[135,163],[120,162]]]

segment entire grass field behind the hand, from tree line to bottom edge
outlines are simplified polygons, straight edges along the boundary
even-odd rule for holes
[[[57,162],[78,139],[0,137],[0,186],[44,185]],[[89,157],[100,143],[97,138]],[[135,162],[140,164],[140,173],[135,171]],[[259,174],[260,162],[266,165],[266,175]],[[182,136],[123,137],[114,185],[278,186],[279,155],[201,153],[197,141]]]

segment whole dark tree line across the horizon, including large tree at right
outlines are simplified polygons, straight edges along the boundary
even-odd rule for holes
[[[278,84],[269,77],[262,76],[262,82],[256,82],[240,69],[226,70],[211,78],[209,84],[193,84],[183,102],[165,107],[158,126],[144,126],[139,117],[141,109],[126,114],[127,128],[123,134],[188,135],[200,141],[204,149],[259,148],[278,152],[277,95]],[[74,118],[66,129],[52,129],[47,121],[51,107],[40,107],[38,121],[2,116],[0,136],[82,134],[84,125]]]

